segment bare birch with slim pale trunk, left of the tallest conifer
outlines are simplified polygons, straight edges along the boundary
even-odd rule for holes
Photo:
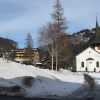
[[[53,31],[53,26],[50,22],[47,23],[46,26],[43,26],[42,28],[39,29],[38,39],[39,39],[39,43],[41,43],[42,45],[46,45],[50,56],[52,56],[52,70],[53,70],[53,56],[55,54],[53,44],[54,44],[55,34]]]

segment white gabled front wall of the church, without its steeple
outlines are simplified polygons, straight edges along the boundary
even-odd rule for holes
[[[86,60],[88,58],[93,58],[94,60]],[[84,67],[81,66],[81,62],[84,62]],[[99,67],[96,67],[96,62],[99,62]],[[88,71],[96,72],[100,71],[100,54],[90,47],[81,52],[76,56],[76,71],[86,71],[86,67]]]

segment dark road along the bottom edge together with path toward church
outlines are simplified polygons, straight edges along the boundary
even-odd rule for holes
[[[59,99],[48,98],[24,98],[0,95],[0,100],[100,100],[100,87],[95,81],[87,74],[84,74],[84,84],[75,92],[66,97]]]

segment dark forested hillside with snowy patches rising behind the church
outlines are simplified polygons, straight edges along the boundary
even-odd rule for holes
[[[69,67],[72,66],[73,58],[77,54],[79,54],[89,46],[92,46],[91,44],[94,40],[94,36],[95,28],[93,28],[92,30],[85,29],[71,35],[70,50],[72,56],[69,58]]]

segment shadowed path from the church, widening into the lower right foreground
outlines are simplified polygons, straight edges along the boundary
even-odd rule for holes
[[[100,87],[87,74],[84,74],[85,82],[77,91],[62,100],[100,100]]]

